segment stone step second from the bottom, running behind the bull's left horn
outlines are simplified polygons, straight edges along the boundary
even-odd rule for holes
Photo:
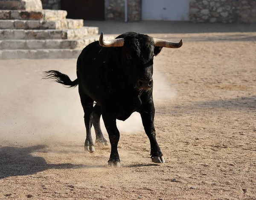
[[[108,35],[104,35],[104,38],[114,39]],[[0,49],[83,49],[98,40],[99,35],[78,40],[2,40]]]

